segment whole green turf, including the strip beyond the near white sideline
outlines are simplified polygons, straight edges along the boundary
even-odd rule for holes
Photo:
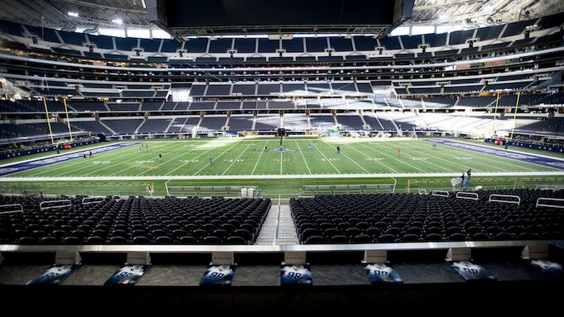
[[[133,142],[139,143],[4,176],[1,189],[137,195],[145,194],[151,183],[155,194],[164,195],[168,181],[168,186],[256,185],[269,197],[295,197],[302,185],[396,183],[396,192],[417,192],[421,188],[448,190],[450,179],[468,168],[476,173],[472,186],[534,188],[564,183],[564,175],[542,175],[561,172],[551,167],[407,138],[288,138],[284,152],[278,151],[279,140],[273,138]],[[512,175],[518,172],[527,175]]]

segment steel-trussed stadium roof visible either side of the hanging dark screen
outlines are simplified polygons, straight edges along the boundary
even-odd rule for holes
[[[376,2],[376,1],[375,1]],[[0,19],[50,28],[154,28],[145,0],[0,0]],[[409,26],[475,28],[564,11],[561,0],[416,0]]]

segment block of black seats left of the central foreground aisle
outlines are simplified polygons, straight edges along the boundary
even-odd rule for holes
[[[270,199],[129,199],[39,210],[40,198],[2,197],[0,244],[253,244]],[[56,206],[56,203],[53,203]],[[44,206],[45,207],[45,206]]]

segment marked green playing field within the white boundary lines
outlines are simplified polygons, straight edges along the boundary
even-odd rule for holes
[[[312,143],[308,147],[308,142]],[[141,144],[141,143],[140,143]],[[426,141],[325,138],[278,140],[217,138],[152,141],[89,159],[37,167],[10,177],[217,176],[474,172],[550,172],[551,167],[504,159]],[[337,153],[336,147],[341,152]],[[400,154],[396,148],[400,147]],[[162,159],[159,160],[159,154]],[[211,156],[211,161],[210,161]]]

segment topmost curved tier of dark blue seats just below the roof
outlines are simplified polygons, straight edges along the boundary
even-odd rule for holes
[[[185,44],[171,39],[137,39],[109,37],[104,35],[87,35],[72,33],[51,28],[24,26],[8,21],[0,21],[0,30],[8,35],[19,37],[36,37],[52,42],[55,47],[62,44],[73,46],[94,45],[96,48],[112,51],[131,52],[136,49],[148,53],[176,53],[184,49],[188,53],[227,53],[236,50],[238,53],[276,53],[285,50],[289,53],[324,52],[328,48],[340,51],[373,51],[376,47],[387,50],[417,49],[421,46],[441,47],[465,44],[468,39],[491,41],[501,37],[512,37],[525,33],[527,26],[538,25],[538,29],[554,28],[561,25],[562,14],[543,17],[538,21],[531,19],[518,21],[504,26],[488,26],[477,30],[459,30],[443,34],[402,35],[375,39],[368,36],[354,37],[304,37],[294,39],[245,39],[245,38],[195,38],[188,39]],[[476,33],[475,33],[476,32]],[[57,46],[58,45],[58,46]],[[73,51],[71,48],[64,48]]]

